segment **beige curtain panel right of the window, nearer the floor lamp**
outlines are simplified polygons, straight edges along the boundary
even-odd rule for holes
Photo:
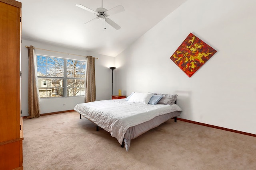
[[[85,98],[84,102],[94,102],[96,98],[96,87],[95,87],[95,64],[94,57],[87,56],[86,66],[86,77],[85,77]]]

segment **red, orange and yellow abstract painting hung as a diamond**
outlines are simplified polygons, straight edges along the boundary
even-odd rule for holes
[[[170,59],[191,77],[217,51],[190,33]]]

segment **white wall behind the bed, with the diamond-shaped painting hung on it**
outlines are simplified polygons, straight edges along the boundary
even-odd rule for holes
[[[116,94],[178,94],[180,118],[256,134],[255,8],[188,0],[116,57]],[[170,56],[190,32],[218,52],[189,78]]]

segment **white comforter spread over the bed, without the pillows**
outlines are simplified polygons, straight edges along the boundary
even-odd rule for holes
[[[140,104],[125,99],[101,100],[77,104],[74,110],[96,123],[115,137],[120,145],[127,129],[153,119],[156,116],[182,111],[176,104]]]

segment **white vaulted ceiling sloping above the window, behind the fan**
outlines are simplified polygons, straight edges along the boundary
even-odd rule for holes
[[[92,20],[96,14],[76,6],[96,11],[102,0],[17,1],[22,2],[22,39],[116,57],[186,0],[103,0],[107,10],[124,7],[124,12],[108,17],[120,25],[118,30],[104,20]]]

